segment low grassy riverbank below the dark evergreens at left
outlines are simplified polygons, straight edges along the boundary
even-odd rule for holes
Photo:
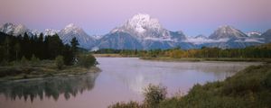
[[[78,76],[101,71],[98,67],[64,66],[56,67],[53,60],[42,60],[39,63],[14,63],[0,67],[0,81],[28,79],[51,76]]]

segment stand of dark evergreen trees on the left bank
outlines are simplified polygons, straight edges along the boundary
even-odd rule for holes
[[[44,36],[12,36],[0,32],[0,62],[18,61],[21,58],[54,59],[62,56],[65,65],[72,65],[78,53],[79,42],[73,38],[64,44],[58,34]]]

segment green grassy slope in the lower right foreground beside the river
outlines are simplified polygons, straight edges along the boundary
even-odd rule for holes
[[[161,87],[155,88],[159,91]],[[153,90],[155,91],[155,90]],[[162,93],[162,92],[160,92]],[[148,95],[145,95],[145,98]],[[158,102],[158,98],[156,101]],[[160,98],[161,99],[161,98]],[[159,100],[160,100],[159,99]],[[228,77],[205,85],[194,85],[188,94],[176,94],[158,105],[116,103],[112,108],[268,108],[271,107],[271,65],[251,66]],[[152,102],[152,101],[151,101]]]

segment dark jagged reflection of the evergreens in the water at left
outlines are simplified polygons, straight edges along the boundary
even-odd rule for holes
[[[33,102],[34,99],[43,97],[58,100],[61,94],[65,99],[70,96],[82,94],[84,91],[90,91],[95,84],[99,73],[89,73],[87,76],[69,76],[58,78],[40,78],[30,80],[18,80],[0,83],[0,94],[5,94],[6,99],[15,100],[23,98]]]

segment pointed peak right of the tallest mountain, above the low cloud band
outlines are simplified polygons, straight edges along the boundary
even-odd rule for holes
[[[246,37],[248,37],[247,34],[229,25],[220,26],[219,29],[214,31],[209,36],[209,38],[213,40],[220,40],[220,39],[226,39],[226,38],[238,39],[238,38],[246,38]]]

